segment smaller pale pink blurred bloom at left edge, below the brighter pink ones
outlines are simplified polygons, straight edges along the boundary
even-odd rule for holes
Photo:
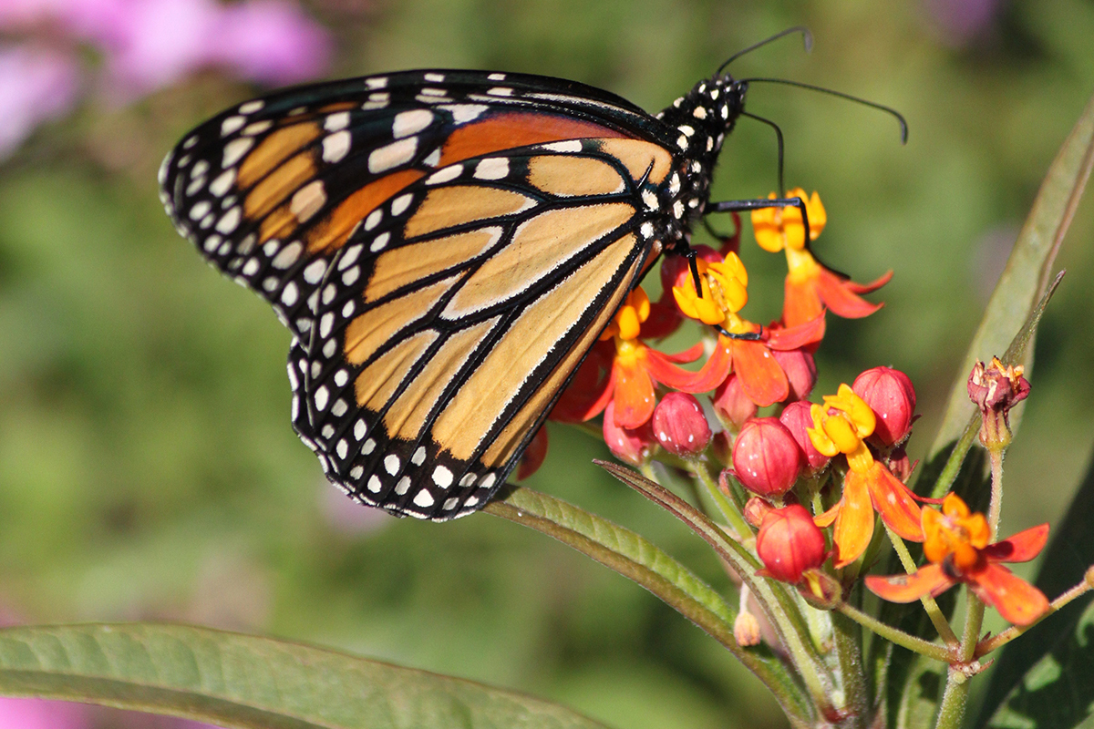
[[[75,103],[79,69],[72,57],[32,45],[0,46],[0,160],[43,121]]]

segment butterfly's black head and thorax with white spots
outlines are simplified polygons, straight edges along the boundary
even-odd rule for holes
[[[700,81],[691,91],[657,114],[676,134],[675,174],[663,190],[672,224],[666,248],[684,245],[691,225],[702,215],[710,196],[710,179],[722,142],[744,110],[748,84],[729,74]]]

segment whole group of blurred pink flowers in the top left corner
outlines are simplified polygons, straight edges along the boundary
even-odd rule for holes
[[[327,68],[331,45],[294,0],[0,0],[0,33],[18,39],[0,46],[0,158],[74,105],[79,46],[103,58],[115,101],[132,101],[203,68],[299,83]]]

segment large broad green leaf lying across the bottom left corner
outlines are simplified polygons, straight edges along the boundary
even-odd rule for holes
[[[0,694],[233,729],[603,729],[565,707],[472,681],[184,625],[0,631]]]

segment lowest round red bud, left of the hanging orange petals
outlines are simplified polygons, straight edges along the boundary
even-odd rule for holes
[[[801,504],[773,509],[764,517],[756,536],[756,553],[764,563],[758,574],[799,583],[806,569],[819,567],[827,558],[824,532]]]

